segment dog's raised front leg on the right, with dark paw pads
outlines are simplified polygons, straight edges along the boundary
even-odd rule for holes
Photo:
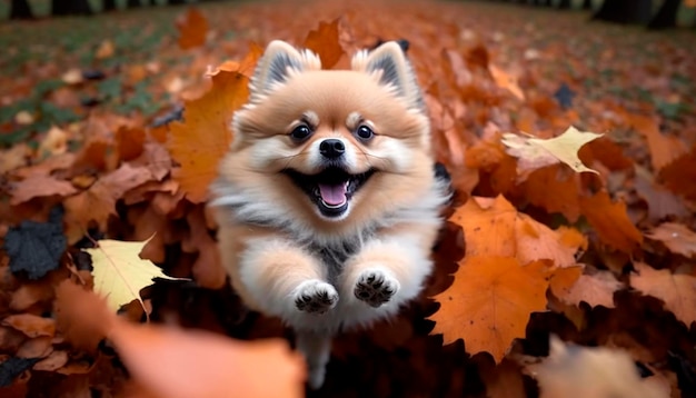
[[[401,233],[369,241],[351,258],[341,276],[344,299],[362,301],[370,307],[387,302],[396,306],[416,297],[432,263],[422,240]]]

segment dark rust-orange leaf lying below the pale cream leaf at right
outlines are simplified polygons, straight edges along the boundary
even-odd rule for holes
[[[606,191],[580,197],[580,211],[593,226],[599,239],[625,253],[632,253],[643,243],[643,235],[628,219],[626,203],[612,202]]]

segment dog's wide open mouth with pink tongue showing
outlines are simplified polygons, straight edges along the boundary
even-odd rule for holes
[[[348,210],[348,202],[355,192],[365,185],[375,170],[350,175],[344,169],[331,167],[318,175],[304,175],[291,169],[285,170],[285,173],[309,196],[321,215],[340,217]]]

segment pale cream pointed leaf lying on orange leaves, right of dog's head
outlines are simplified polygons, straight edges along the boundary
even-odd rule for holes
[[[519,137],[514,133],[504,133],[503,143],[507,146],[507,153],[518,158],[517,171],[524,180],[527,175],[536,169],[564,162],[577,172],[594,172],[578,158],[578,151],[587,142],[604,135],[580,131],[570,126],[560,136],[550,139],[535,138],[531,135]]]

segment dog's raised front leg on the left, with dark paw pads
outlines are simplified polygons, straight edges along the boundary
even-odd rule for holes
[[[324,314],[338,301],[319,261],[282,239],[249,239],[238,275],[257,306],[284,319],[294,311]]]

